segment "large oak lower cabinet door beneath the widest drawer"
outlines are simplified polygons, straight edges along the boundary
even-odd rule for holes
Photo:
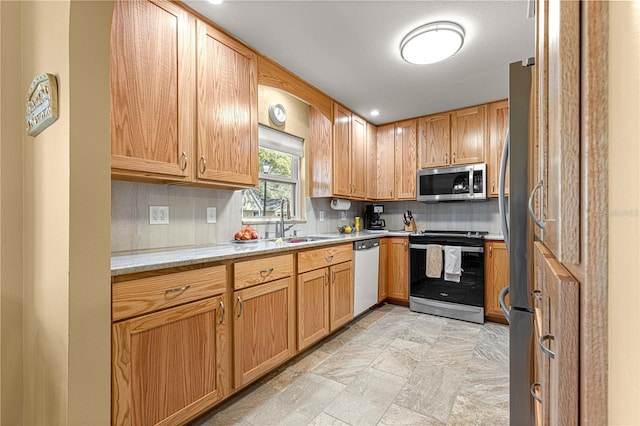
[[[112,422],[182,424],[228,392],[224,298],[113,325]]]

